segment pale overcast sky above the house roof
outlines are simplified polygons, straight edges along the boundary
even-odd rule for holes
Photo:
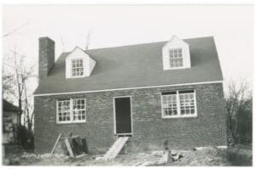
[[[21,26],[21,27],[20,27]],[[38,37],[55,41],[55,58],[75,46],[108,48],[213,36],[224,81],[253,83],[253,6],[3,6],[3,54],[16,48],[38,69]],[[34,82],[32,88],[37,84]]]

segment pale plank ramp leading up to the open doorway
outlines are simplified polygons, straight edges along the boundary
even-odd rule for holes
[[[114,159],[117,155],[119,155],[119,152],[121,149],[123,149],[124,145],[128,141],[129,137],[120,137],[118,138],[110,149],[108,149],[108,152],[102,157],[103,161],[109,161]]]

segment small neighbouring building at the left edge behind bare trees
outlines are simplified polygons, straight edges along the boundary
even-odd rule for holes
[[[19,108],[3,99],[3,144],[13,142],[15,127],[20,124]]]

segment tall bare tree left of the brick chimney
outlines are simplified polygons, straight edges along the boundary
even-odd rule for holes
[[[3,77],[6,79],[3,82],[3,94],[4,97],[8,97],[10,94],[17,99],[18,108],[20,110],[20,125],[21,116],[24,117],[24,125],[28,129],[32,130],[32,91],[29,91],[27,82],[35,75],[33,74],[33,67],[27,67],[25,63],[25,56],[18,54],[15,50],[11,50],[11,57],[5,60],[3,67]],[[4,71],[9,68],[9,72]]]

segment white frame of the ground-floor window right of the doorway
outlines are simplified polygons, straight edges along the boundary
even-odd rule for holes
[[[179,99],[179,92],[186,91],[186,90],[177,90],[176,91],[176,100],[177,100],[177,115],[165,115],[165,112],[163,110],[163,94],[161,93],[161,114],[163,119],[169,119],[169,118],[186,118],[186,117],[196,117],[197,116],[197,105],[196,105],[196,92],[194,91],[194,104],[195,104],[195,113],[193,115],[181,115],[181,109],[180,109],[180,99]]]

